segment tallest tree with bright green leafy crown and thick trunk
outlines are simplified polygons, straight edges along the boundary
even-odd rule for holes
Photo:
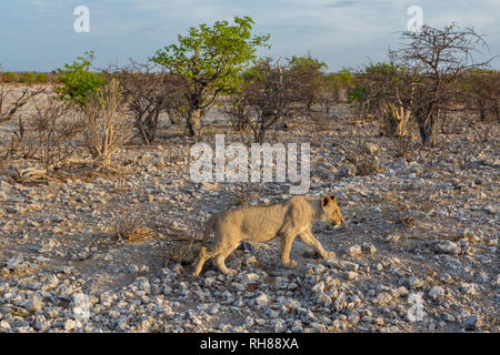
[[[179,34],[179,44],[164,47],[151,60],[182,79],[188,102],[188,134],[198,136],[201,119],[222,94],[231,94],[241,82],[241,73],[256,58],[258,47],[268,47],[268,36],[251,36],[253,20],[234,18],[234,24],[217,21],[200,24],[188,36]]]

